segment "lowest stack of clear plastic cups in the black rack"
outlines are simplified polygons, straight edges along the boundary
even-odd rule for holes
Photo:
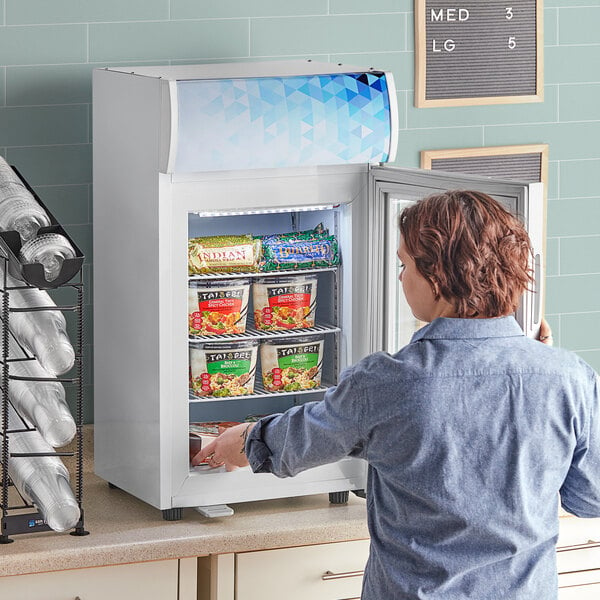
[[[11,430],[23,429],[21,418],[9,407]],[[35,429],[9,433],[12,453],[53,452]],[[69,484],[69,472],[58,456],[11,456],[8,474],[23,498],[40,511],[54,531],[75,527],[80,518],[79,505]]]

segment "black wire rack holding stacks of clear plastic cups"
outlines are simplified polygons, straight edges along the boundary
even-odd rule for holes
[[[52,529],[44,522],[42,514],[36,509],[35,506],[28,503],[18,493],[16,486],[11,481],[8,473],[8,462],[9,458],[13,456],[17,460],[21,457],[33,457],[33,456],[59,456],[59,457],[74,457],[75,471],[71,477],[71,487],[73,489],[74,496],[77,500],[77,504],[80,510],[80,518],[73,530],[70,532],[74,536],[88,535],[88,531],[84,527],[84,511],[83,511],[83,276],[82,276],[82,264],[83,254],[73,243],[64,229],[56,221],[52,213],[44,206],[37,194],[31,189],[23,177],[18,173],[16,169],[13,170],[21,178],[24,185],[31,192],[34,198],[39,204],[46,210],[50,217],[51,226],[43,227],[40,229],[39,234],[42,233],[61,233],[64,235],[75,249],[76,258],[65,259],[62,264],[61,271],[56,279],[48,282],[44,275],[44,268],[41,264],[28,264],[23,265],[18,257],[18,253],[21,247],[20,236],[16,231],[4,231],[0,232],[0,265],[3,267],[3,276],[0,278],[0,298],[1,307],[0,315],[2,320],[2,332],[0,335],[1,350],[0,350],[0,366],[1,372],[1,423],[0,423],[0,443],[2,447],[1,455],[1,490],[0,490],[0,509],[1,509],[1,531],[0,531],[0,544],[9,544],[14,540],[9,537],[15,534],[26,534],[26,533],[38,533],[42,531],[52,531]],[[76,300],[72,304],[68,305],[57,305],[51,307],[31,307],[31,308],[11,308],[10,307],[10,295],[11,289],[17,289],[16,287],[10,287],[7,285],[6,273],[10,272],[15,278],[23,281],[22,286],[19,288],[37,287],[39,289],[57,289],[57,288],[71,288],[76,293]],[[76,341],[74,345],[75,349],[75,365],[71,371],[75,371],[73,377],[20,377],[17,375],[10,374],[10,365],[15,360],[33,360],[33,357],[25,352],[26,358],[10,359],[9,358],[9,336],[11,335],[9,330],[10,314],[12,312],[36,312],[44,310],[59,310],[61,312],[73,312],[77,317],[77,330],[76,330]],[[17,431],[31,431],[31,428],[26,425],[23,421],[23,429],[10,429],[9,427],[9,395],[8,395],[8,384],[10,380],[26,380],[26,381],[53,381],[60,382],[62,384],[73,385],[76,388],[76,414],[75,414],[75,425],[76,434],[72,444],[75,446],[74,451],[55,451],[48,453],[19,453],[11,455],[9,453],[9,438],[11,434]],[[18,414],[18,411],[15,411]],[[11,488],[14,488],[14,493],[11,494]],[[16,496],[16,498],[15,498]],[[12,499],[11,499],[12,497]],[[15,502],[16,500],[16,502]]]

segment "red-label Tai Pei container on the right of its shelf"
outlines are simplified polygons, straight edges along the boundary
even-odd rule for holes
[[[254,326],[263,331],[314,327],[317,276],[264,277],[252,286]]]

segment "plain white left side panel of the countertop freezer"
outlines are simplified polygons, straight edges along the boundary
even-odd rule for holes
[[[160,485],[169,458],[159,401],[160,97],[157,80],[94,72],[94,450],[98,475],[167,506]]]

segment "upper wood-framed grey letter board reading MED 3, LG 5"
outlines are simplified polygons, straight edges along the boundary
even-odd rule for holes
[[[415,106],[542,102],[543,0],[415,0]]]

